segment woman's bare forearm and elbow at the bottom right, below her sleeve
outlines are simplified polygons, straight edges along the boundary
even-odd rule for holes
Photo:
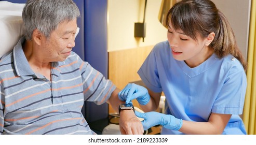
[[[208,122],[192,122],[183,120],[180,132],[184,134],[222,134],[231,114],[211,113]]]

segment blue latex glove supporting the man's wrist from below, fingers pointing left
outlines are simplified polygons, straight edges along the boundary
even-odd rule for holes
[[[144,119],[143,121],[141,121],[144,130],[147,130],[150,127],[158,124],[172,130],[179,130],[182,126],[182,119],[177,119],[173,117],[173,115],[169,114],[163,114],[158,112],[140,113],[138,111],[135,111],[135,115],[139,118]]]

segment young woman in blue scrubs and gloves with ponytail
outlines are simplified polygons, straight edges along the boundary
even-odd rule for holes
[[[227,19],[209,0],[183,0],[168,12],[168,41],[157,44],[138,71],[146,89],[128,84],[119,99],[137,99],[144,129],[161,134],[246,134],[239,114],[246,61]],[[165,114],[153,112],[161,93]],[[152,111],[152,112],[151,112]]]

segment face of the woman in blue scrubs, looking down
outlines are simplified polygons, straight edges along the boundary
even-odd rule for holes
[[[197,36],[197,40],[185,35],[180,30],[174,30],[169,23],[167,38],[174,59],[185,61],[190,67],[196,67],[206,61],[212,51],[206,45],[207,38]]]

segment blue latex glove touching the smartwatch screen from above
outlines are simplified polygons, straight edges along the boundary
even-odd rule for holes
[[[130,103],[133,99],[137,99],[141,105],[146,105],[150,101],[150,95],[147,89],[134,83],[127,84],[125,88],[118,93],[118,98],[125,101],[126,104]]]

